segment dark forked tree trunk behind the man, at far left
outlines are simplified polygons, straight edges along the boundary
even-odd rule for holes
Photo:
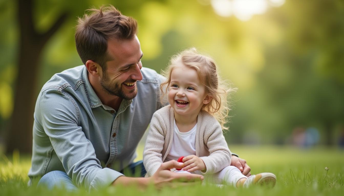
[[[18,74],[15,84],[14,108],[9,125],[7,153],[18,149],[22,153],[32,152],[32,125],[39,60],[42,50],[50,37],[58,30],[67,17],[63,13],[44,34],[34,29],[32,0],[18,0],[18,21],[20,46]]]

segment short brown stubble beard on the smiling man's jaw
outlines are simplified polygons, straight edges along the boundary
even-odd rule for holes
[[[135,89],[130,91],[131,94],[127,95],[126,93],[123,92],[121,88],[121,84],[118,84],[118,83],[112,84],[110,82],[109,77],[105,71],[104,71],[103,77],[100,80],[100,85],[103,88],[103,90],[109,95],[115,95],[125,100],[133,99],[137,95],[137,91],[138,91],[137,86],[135,86]]]

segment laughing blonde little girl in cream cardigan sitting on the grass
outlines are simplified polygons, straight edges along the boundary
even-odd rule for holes
[[[162,95],[168,93],[170,105],[153,114],[143,152],[147,176],[152,176],[162,162],[184,157],[184,168],[205,176],[207,182],[249,186],[255,183],[275,185],[276,176],[260,173],[246,177],[230,166],[231,153],[222,134],[228,115],[225,90],[215,62],[196,49],[172,58],[164,72]],[[167,86],[167,87],[166,87]],[[165,90],[163,90],[165,89]]]

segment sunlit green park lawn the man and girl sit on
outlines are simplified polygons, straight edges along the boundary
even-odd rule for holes
[[[277,146],[230,146],[247,160],[251,172],[272,172],[277,176],[274,188],[250,187],[236,189],[226,186],[193,184],[184,187],[172,184],[161,190],[149,187],[146,190],[132,187],[107,187],[99,191],[66,192],[44,188],[27,187],[27,173],[30,156],[14,152],[12,157],[1,155],[0,195],[344,195],[344,151],[336,148],[298,149]],[[138,158],[142,159],[142,146],[138,148]],[[326,171],[325,167],[329,170]],[[176,187],[174,187],[176,186]]]

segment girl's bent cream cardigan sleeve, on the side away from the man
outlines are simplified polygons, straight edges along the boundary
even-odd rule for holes
[[[216,122],[209,123],[209,125],[213,125],[211,127],[206,127],[209,131],[206,131],[204,135],[204,142],[205,145],[208,147],[209,156],[200,157],[206,167],[206,171],[202,173],[204,174],[213,174],[223,170],[226,166],[230,165],[230,157],[231,153],[228,149],[227,142],[225,137],[222,133],[221,125],[215,120]]]

